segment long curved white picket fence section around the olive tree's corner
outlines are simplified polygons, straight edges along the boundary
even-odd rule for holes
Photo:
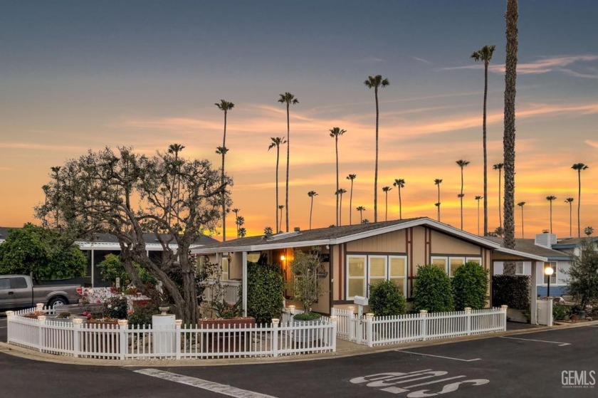
[[[40,352],[72,357],[126,359],[203,359],[278,357],[335,352],[337,321],[294,325],[273,319],[269,325],[129,325],[61,319],[53,309],[7,311],[8,342]],[[160,315],[156,315],[160,316]]]

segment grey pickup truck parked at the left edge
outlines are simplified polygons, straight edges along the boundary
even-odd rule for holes
[[[0,275],[0,311],[78,303],[78,285],[33,285],[26,275]]]

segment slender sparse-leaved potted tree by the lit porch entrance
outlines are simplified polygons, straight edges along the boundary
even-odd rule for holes
[[[320,248],[313,247],[308,253],[304,251],[293,251],[293,261],[290,269],[293,279],[290,281],[293,290],[293,300],[297,300],[303,306],[303,314],[293,317],[294,325],[313,325],[320,320],[321,315],[312,312],[312,305],[324,294],[324,279],[318,278],[320,267]],[[295,332],[295,341],[308,340],[305,333]]]

